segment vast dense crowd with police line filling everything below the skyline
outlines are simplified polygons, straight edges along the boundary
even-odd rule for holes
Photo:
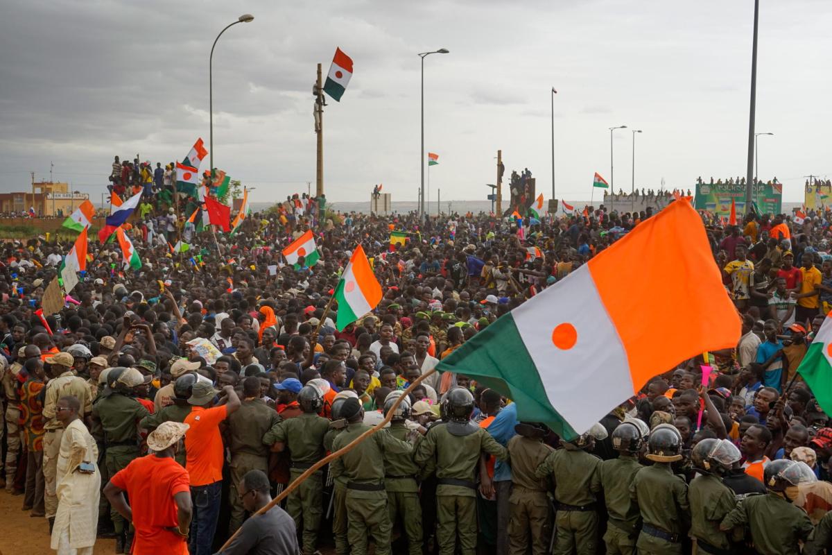
[[[739,343],[656,369],[559,438],[500,392],[431,371],[650,209],[531,225],[323,216],[297,198],[215,240],[151,190],[131,221],[141,269],[91,243],[54,314],[44,291],[72,242],[3,245],[2,476],[57,553],[102,537],[116,553],[191,555],[829,552],[832,423],[795,372],[832,306],[829,213],[729,227],[703,215]],[[306,230],[319,260],[285,264]],[[392,230],[409,239],[391,245]],[[172,249],[186,231],[191,250]],[[384,295],[338,330],[330,301],[356,245]]]

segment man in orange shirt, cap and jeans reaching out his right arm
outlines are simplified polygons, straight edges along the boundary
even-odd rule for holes
[[[224,396],[219,400],[219,406],[214,406],[216,394],[220,392],[211,384],[197,382],[188,399],[193,405],[191,414],[185,417],[185,424],[191,426],[185,434],[185,468],[191,475],[191,503],[194,505],[188,541],[191,555],[212,553],[211,543],[220,516],[223,463],[220,422],[240,408],[240,398],[233,386],[226,385],[222,392]]]

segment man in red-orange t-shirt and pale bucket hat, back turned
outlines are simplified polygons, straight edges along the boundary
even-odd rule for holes
[[[155,453],[133,459],[104,488],[112,507],[136,528],[131,553],[188,554],[190,480],[174,458],[187,429],[179,422],[160,424],[147,436],[147,447]]]

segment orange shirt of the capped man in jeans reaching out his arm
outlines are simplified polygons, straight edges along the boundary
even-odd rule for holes
[[[188,452],[185,468],[191,474],[192,486],[206,486],[222,479],[222,436],[220,422],[228,416],[226,405],[206,409],[194,406],[185,417],[191,426],[185,433]]]

